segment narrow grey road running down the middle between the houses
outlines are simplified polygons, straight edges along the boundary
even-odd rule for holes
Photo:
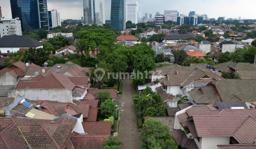
[[[139,149],[137,116],[133,107],[134,89],[131,79],[123,79],[118,138],[123,141],[121,149]]]

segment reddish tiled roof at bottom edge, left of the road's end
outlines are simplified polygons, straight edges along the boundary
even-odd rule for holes
[[[108,136],[108,134],[78,134],[71,137],[71,140],[76,149],[103,149],[103,141],[106,140]]]

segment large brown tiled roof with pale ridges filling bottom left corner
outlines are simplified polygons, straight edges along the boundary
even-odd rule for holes
[[[0,148],[65,148],[75,126],[29,118],[0,118],[0,123],[5,123]]]

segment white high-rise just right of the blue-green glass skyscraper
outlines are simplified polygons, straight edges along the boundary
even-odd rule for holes
[[[148,13],[145,13],[145,18],[148,18]],[[141,2],[126,2],[126,22],[142,23],[142,3]]]

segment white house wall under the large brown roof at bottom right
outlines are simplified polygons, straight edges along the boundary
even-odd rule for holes
[[[218,149],[217,145],[229,144],[230,137],[201,137],[194,139],[199,149]]]

